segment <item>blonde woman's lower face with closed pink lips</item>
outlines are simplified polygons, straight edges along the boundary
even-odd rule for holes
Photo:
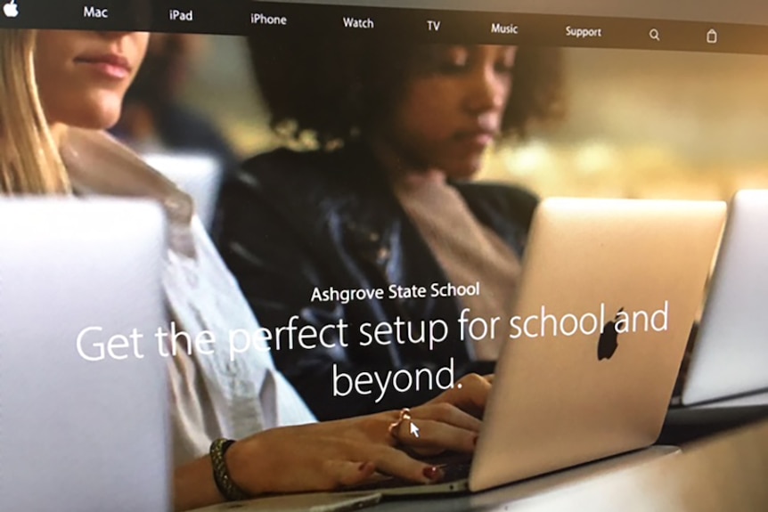
[[[148,41],[146,32],[37,32],[35,72],[48,122],[91,129],[117,123]]]

